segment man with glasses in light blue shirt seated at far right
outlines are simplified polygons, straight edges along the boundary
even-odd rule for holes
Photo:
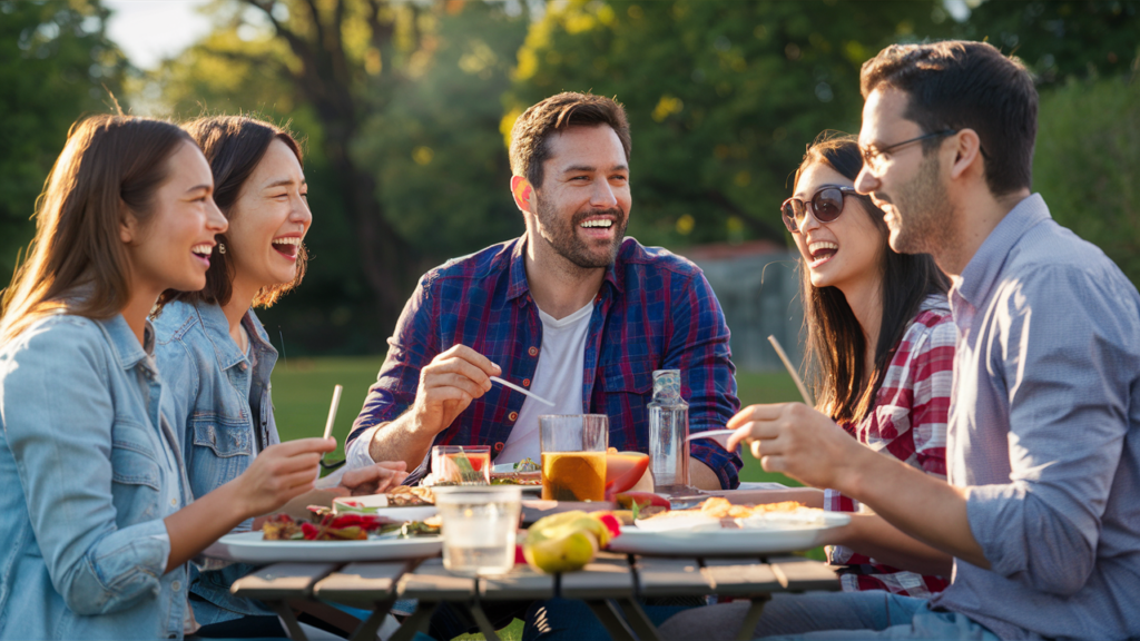
[[[931,253],[954,283],[948,482],[800,404],[742,411],[730,445],[952,554],[953,583],[929,602],[776,599],[757,635],[1140,636],[1140,294],[1031,194],[1032,79],[990,44],[940,42],[885,49],[862,86],[856,188],[893,249]]]

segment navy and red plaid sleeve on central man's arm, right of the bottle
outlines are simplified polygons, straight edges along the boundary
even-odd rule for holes
[[[703,274],[697,274],[674,295],[671,336],[662,368],[681,370],[683,395],[689,399],[691,433],[723,429],[736,412],[735,366],[728,348],[728,325],[720,302]],[[720,487],[740,485],[743,461],[715,440],[692,441],[693,459],[708,465],[720,479]]]

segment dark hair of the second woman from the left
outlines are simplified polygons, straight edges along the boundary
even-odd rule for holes
[[[190,137],[202,147],[210,170],[214,177],[214,203],[227,219],[233,217],[234,203],[242,193],[242,187],[249,180],[258,163],[269,151],[274,140],[280,140],[296,155],[298,162],[304,165],[301,146],[285,129],[270,122],[247,116],[210,116],[199,117],[182,125]],[[218,234],[219,243],[233,248],[225,234]],[[210,255],[210,269],[206,270],[206,286],[197,292],[179,292],[168,290],[158,299],[160,306],[172,300],[186,302],[205,301],[225,306],[234,295],[234,252],[218,250]],[[253,307],[269,307],[285,292],[301,284],[309,254],[304,244],[298,248],[296,277],[288,283],[279,283],[262,287],[253,297]]]

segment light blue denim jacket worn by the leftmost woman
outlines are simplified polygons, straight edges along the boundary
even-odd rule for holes
[[[122,316],[0,346],[0,639],[182,636],[162,519],[189,488],[149,351]]]

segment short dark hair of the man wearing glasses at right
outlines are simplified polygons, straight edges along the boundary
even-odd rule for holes
[[[926,133],[976,131],[986,185],[995,196],[1032,186],[1037,90],[1016,57],[1005,57],[986,42],[891,44],[863,64],[861,83],[864,98],[876,89],[904,91],[905,117]],[[925,151],[940,140],[927,140]]]

